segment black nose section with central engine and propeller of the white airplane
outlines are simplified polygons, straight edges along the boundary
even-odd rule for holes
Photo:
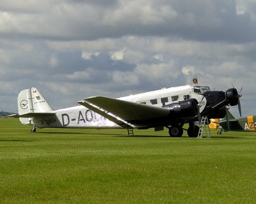
[[[228,105],[238,105],[241,115],[240,97],[236,88],[229,88],[227,91],[207,91],[204,93],[207,99],[202,115],[207,115],[208,118],[223,118],[226,115],[226,107]]]

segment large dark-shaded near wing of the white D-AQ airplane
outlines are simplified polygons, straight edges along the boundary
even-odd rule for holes
[[[154,120],[167,116],[170,113],[166,108],[103,96],[89,97],[77,103],[125,128],[129,126],[132,128],[143,128],[146,126],[143,124],[143,121]]]

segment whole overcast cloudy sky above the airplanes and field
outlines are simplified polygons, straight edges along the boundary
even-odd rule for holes
[[[0,1],[0,111],[30,87],[59,109],[194,77],[243,87],[242,114],[256,114],[255,0]]]

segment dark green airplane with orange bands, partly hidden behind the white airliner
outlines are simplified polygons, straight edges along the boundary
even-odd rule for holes
[[[226,110],[225,118],[214,120],[210,123],[210,128],[220,128],[218,134],[222,131],[255,131],[256,130],[256,116],[247,116],[241,118],[234,118],[234,116]]]

